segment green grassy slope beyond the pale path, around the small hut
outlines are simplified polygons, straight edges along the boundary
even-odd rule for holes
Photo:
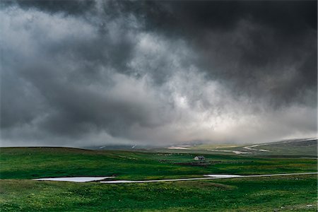
[[[117,175],[118,179],[195,177],[209,173],[271,174],[315,172],[317,160],[305,158],[247,158],[205,155],[211,165],[197,167],[195,154],[87,151],[76,148],[1,148],[2,179]]]

